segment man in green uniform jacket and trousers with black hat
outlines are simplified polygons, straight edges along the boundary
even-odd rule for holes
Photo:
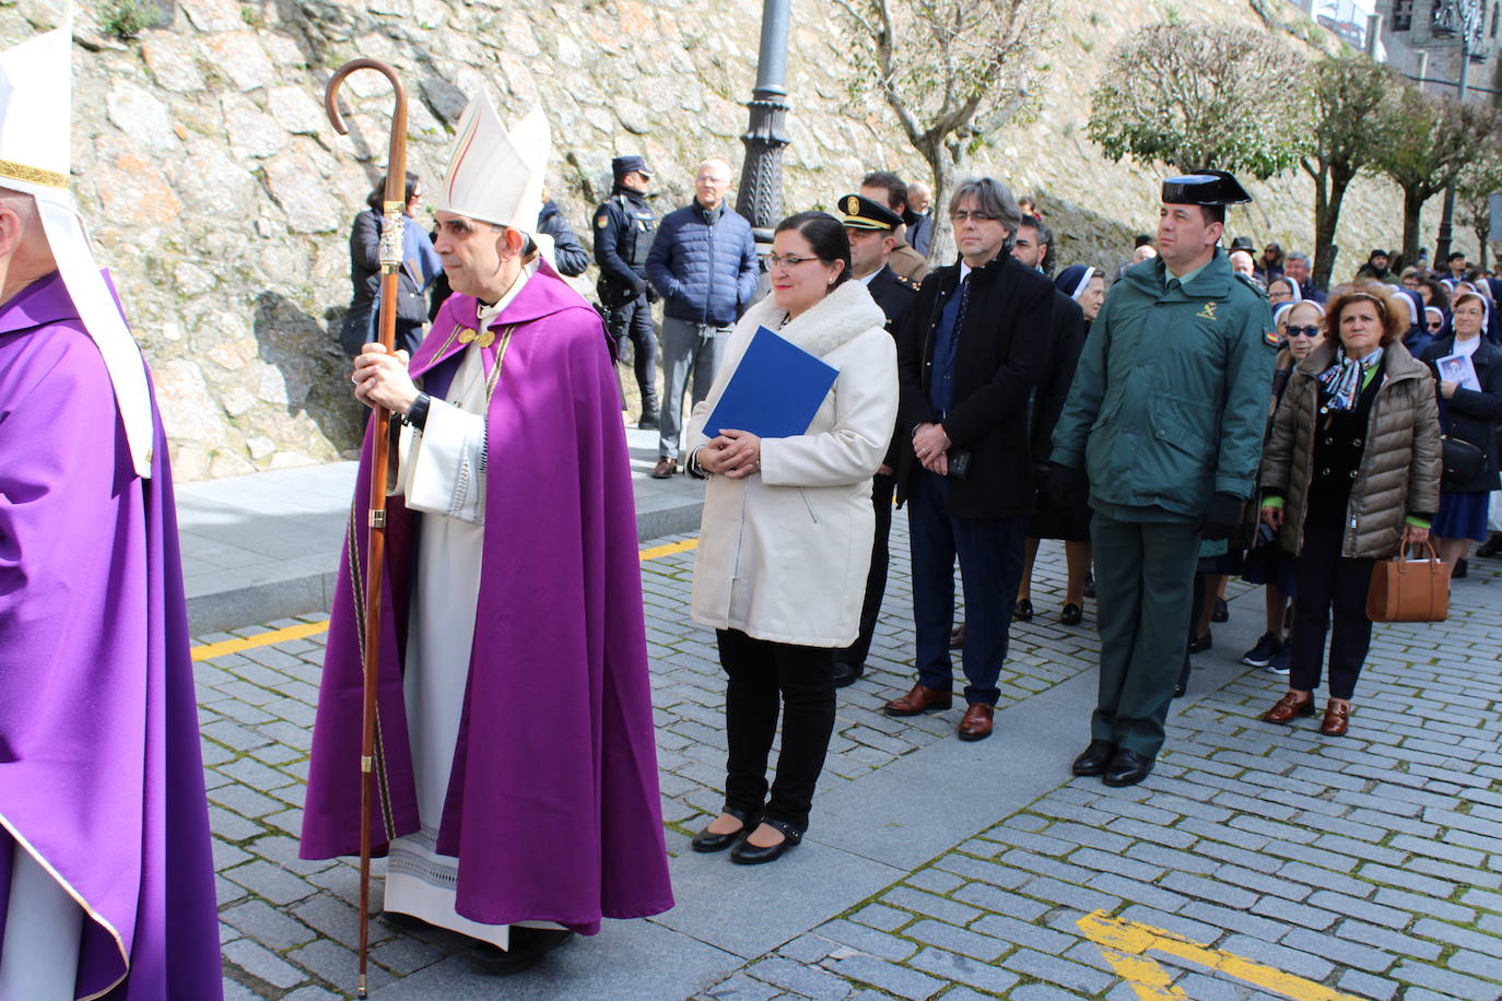
[[[1099,696],[1074,774],[1142,782],[1163,746],[1202,539],[1229,539],[1251,494],[1277,335],[1266,297],[1218,242],[1251,201],[1224,171],[1163,182],[1158,257],[1101,309],[1053,432],[1050,494],[1087,488]]]

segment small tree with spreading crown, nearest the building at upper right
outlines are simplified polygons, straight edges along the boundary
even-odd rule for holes
[[[1403,86],[1391,93],[1383,117],[1386,141],[1377,165],[1403,189],[1403,260],[1413,261],[1424,203],[1445,191],[1467,164],[1496,143],[1497,113],[1448,96],[1434,99],[1418,87]]]

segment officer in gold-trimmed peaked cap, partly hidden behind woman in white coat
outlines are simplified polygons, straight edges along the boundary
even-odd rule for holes
[[[850,276],[865,282],[871,299],[886,314],[886,329],[892,332],[907,315],[918,299],[918,284],[901,278],[891,269],[888,260],[897,246],[897,227],[903,218],[886,206],[846,195],[838,203],[850,236]],[[871,546],[871,570],[865,578],[865,603],[861,606],[861,635],[844,650],[835,651],[835,687],[844,687],[865,671],[865,654],[871,650],[876,620],[882,614],[882,597],[886,594],[888,546],[892,530],[892,492],[897,488],[898,438],[886,450],[886,459],[871,482],[871,503],[876,506],[876,539]]]

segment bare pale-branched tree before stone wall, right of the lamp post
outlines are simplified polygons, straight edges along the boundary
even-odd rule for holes
[[[931,261],[954,254],[946,203],[976,149],[1030,107],[1039,72],[1029,32],[1045,0],[834,0],[855,27],[840,54],[874,84],[933,171]]]

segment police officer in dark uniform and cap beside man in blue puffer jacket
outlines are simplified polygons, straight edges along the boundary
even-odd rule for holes
[[[599,305],[616,341],[616,357],[625,357],[631,341],[637,389],[641,390],[638,428],[658,426],[656,327],[652,303],[656,293],[647,284],[647,251],[656,234],[656,213],[647,204],[652,171],[640,156],[610,161],[616,186],[610,200],[595,210],[595,263],[599,264]]]

